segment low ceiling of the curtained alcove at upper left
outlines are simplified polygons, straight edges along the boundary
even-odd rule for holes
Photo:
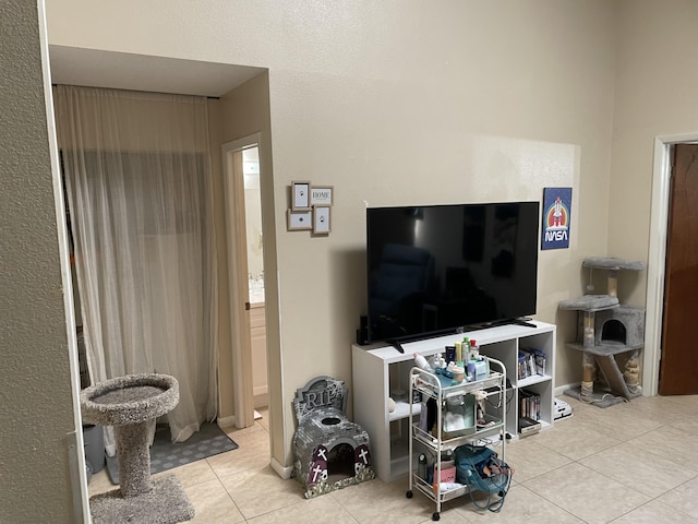
[[[218,97],[263,68],[50,46],[51,83]]]

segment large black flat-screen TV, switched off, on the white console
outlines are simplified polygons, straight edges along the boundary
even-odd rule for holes
[[[539,202],[368,209],[368,342],[534,314],[539,222]]]

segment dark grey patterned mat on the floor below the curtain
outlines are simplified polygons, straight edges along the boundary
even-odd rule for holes
[[[158,427],[151,446],[151,475],[237,449],[238,444],[216,424],[202,424],[186,442],[170,442],[169,428]],[[118,455],[107,456],[107,473],[111,484],[118,485]]]

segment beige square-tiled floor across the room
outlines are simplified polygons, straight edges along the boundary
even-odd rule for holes
[[[514,483],[500,513],[469,497],[442,508],[446,524],[698,523],[698,395],[641,397],[605,409],[573,398],[574,416],[553,429],[513,441],[506,462]],[[429,523],[434,504],[405,498],[407,478],[375,479],[315,499],[269,467],[266,413],[252,428],[230,431],[238,450],[174,473],[197,523]],[[105,471],[91,495],[115,489]]]

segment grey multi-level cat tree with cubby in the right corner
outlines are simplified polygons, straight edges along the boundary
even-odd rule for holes
[[[581,386],[565,394],[607,407],[641,394],[639,350],[645,345],[645,309],[619,303],[617,278],[619,271],[642,271],[645,264],[615,258],[588,258],[582,266],[589,269],[590,275],[593,270],[606,271],[607,288],[605,295],[583,295],[559,302],[559,309],[578,311],[577,341],[567,343],[566,347],[582,352]],[[623,372],[616,360],[618,355],[627,357]],[[605,386],[598,381],[594,386],[598,370],[605,378]]]

